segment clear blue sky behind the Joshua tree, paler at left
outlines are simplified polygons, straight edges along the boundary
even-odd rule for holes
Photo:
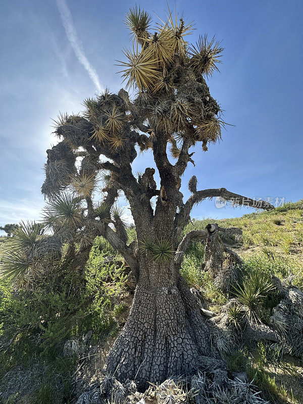
[[[59,6],[65,0],[59,0]],[[137,2],[153,15],[165,16],[166,2]],[[67,0],[75,30],[90,67],[102,87],[122,87],[116,60],[129,46],[125,13],[135,2]],[[172,8],[174,3],[170,2]],[[182,0],[177,10],[195,22],[191,42],[199,34],[216,35],[225,48],[220,72],[209,80],[210,91],[225,111],[223,140],[207,153],[196,146],[198,188],[225,187],[256,198],[303,197],[302,45],[303,3],[243,0]],[[3,2],[0,22],[0,225],[37,220],[44,205],[45,150],[56,139],[52,121],[59,111],[77,113],[82,100],[96,94],[95,80],[79,63],[55,0]],[[150,154],[134,171],[155,167]],[[122,204],[125,204],[125,201]],[[250,210],[216,209],[205,201],[196,218],[241,216]]]

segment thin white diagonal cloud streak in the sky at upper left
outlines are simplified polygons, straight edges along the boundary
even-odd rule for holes
[[[68,8],[66,0],[57,0],[57,6],[60,11],[61,19],[66,31],[66,35],[68,40],[70,41],[72,48],[74,49],[75,55],[78,58],[78,61],[84,66],[87,70],[89,77],[91,78],[92,82],[96,86],[98,92],[102,92],[104,88],[100,84],[100,80],[98,77],[97,72],[91,66],[88,59],[85,56],[84,47],[80,38],[78,37],[76,28],[73,23],[73,17],[71,12]]]

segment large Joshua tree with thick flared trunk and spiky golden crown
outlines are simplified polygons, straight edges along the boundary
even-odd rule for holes
[[[133,42],[123,51],[126,61],[119,63],[126,88],[133,88],[135,95],[125,89],[118,94],[107,90],[86,99],[83,114],[61,114],[55,121],[60,141],[47,150],[42,186],[49,200],[45,223],[54,235],[43,237],[44,247],[36,248],[32,257],[38,259],[39,251],[58,254],[60,243],[68,242],[66,254],[81,270],[97,235],[119,251],[137,284],[107,371],[120,380],[135,378],[144,388],[147,382],[192,373],[199,356],[210,354],[206,319],[180,275],[189,243],[208,237],[207,231],[193,230],[182,238],[193,206],[221,197],[234,204],[273,207],[225,188],[197,190],[195,176],[188,184],[192,195],[183,201],[181,178],[187,165],[194,165],[190,148],[201,143],[207,151],[221,138],[225,124],[205,80],[218,71],[222,48],[207,36],[189,45],[192,24],[171,12],[153,33],[149,15],[140,9],[130,9],[126,24]],[[153,154],[155,167],[134,175],[138,151]],[[154,179],[156,170],[160,186]],[[100,181],[104,198],[96,203],[93,195]],[[135,223],[137,241],[130,244],[115,205],[120,193]],[[22,268],[31,265],[27,261]]]

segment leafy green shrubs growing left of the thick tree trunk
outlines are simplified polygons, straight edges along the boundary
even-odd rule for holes
[[[20,366],[30,372],[38,361],[46,373],[39,375],[42,384],[34,402],[42,403],[47,396],[45,402],[68,402],[77,357],[64,357],[67,340],[88,331],[94,339],[106,338],[117,328],[116,319],[124,310],[117,297],[126,275],[112,253],[104,239],[97,238],[84,274],[60,264],[27,289],[0,279],[0,346],[5,347],[0,351],[0,376]],[[5,389],[0,377],[0,395]]]

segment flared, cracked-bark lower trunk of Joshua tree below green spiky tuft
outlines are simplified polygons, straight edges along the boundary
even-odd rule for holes
[[[156,268],[158,267],[158,268]],[[166,272],[166,274],[165,274]],[[172,375],[192,374],[209,352],[209,331],[173,265],[140,268],[133,304],[108,357],[107,372],[140,390]]]

